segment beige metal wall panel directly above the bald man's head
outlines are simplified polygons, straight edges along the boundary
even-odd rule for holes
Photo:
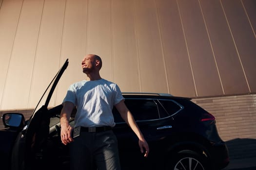
[[[86,53],[102,58],[101,77],[112,81],[110,0],[89,0]]]

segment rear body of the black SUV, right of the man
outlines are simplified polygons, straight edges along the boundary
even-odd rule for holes
[[[124,168],[220,170],[228,165],[227,147],[218,136],[214,116],[189,98],[145,93],[123,96],[150,146],[149,157],[143,158],[136,136],[114,109],[114,131]]]

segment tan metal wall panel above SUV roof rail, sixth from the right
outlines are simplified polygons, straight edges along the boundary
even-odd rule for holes
[[[136,0],[135,18],[142,92],[169,92],[154,0]]]

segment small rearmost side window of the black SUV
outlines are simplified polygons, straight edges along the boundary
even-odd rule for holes
[[[183,106],[172,100],[158,100],[164,111],[172,116],[179,112]]]

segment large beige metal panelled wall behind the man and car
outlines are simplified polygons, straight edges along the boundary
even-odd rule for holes
[[[63,62],[51,105],[102,57],[122,91],[256,93],[255,0],[0,0],[0,110],[34,108]]]

